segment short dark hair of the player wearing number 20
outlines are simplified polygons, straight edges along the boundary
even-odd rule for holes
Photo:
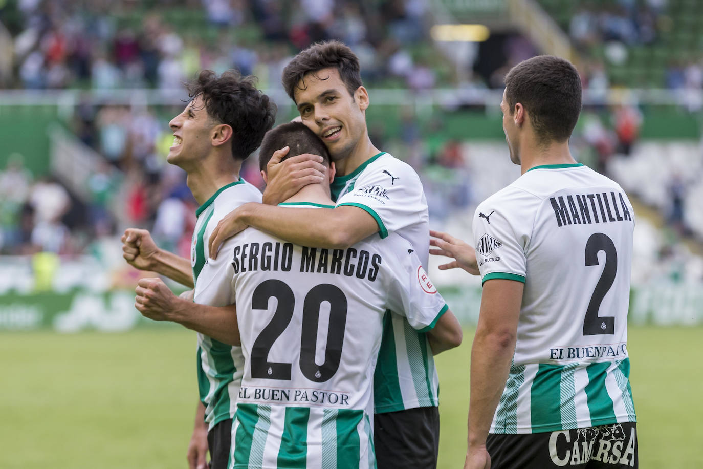
[[[262,146],[259,148],[259,169],[266,171],[266,165],[269,164],[273,152],[284,146],[290,147],[288,155],[283,158],[284,160],[290,156],[310,153],[311,155],[320,155],[324,164],[330,165],[330,152],[325,146],[325,142],[302,122],[288,122],[266,132]]]

